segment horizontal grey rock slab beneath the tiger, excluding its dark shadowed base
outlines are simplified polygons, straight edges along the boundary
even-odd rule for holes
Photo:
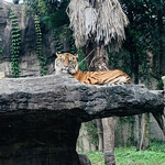
[[[87,86],[67,75],[0,79],[0,112],[6,113],[51,111],[57,117],[70,113],[88,121],[161,112],[163,108],[163,94],[144,86]]]

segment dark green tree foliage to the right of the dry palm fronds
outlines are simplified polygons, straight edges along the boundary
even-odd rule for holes
[[[127,41],[122,48],[125,57],[121,57],[124,63],[129,59],[130,65],[127,70],[130,69],[130,74],[133,74],[138,81],[140,77],[146,79],[150,76],[148,68],[152,68],[152,75],[160,81],[163,75],[161,61],[165,50],[165,24],[163,21],[165,2],[162,0],[121,0],[121,3],[130,21],[127,29]],[[154,56],[153,66],[150,66],[147,51]],[[117,53],[111,57],[119,58],[118,55]]]

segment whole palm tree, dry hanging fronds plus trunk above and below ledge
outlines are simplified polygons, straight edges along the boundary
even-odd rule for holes
[[[105,46],[111,44],[114,50],[119,50],[122,41],[125,38],[124,26],[129,23],[119,1],[70,0],[67,14],[70,19],[70,28],[74,31],[73,35],[75,37],[76,47],[87,45],[87,50],[82,50],[87,55],[89,70],[108,69],[108,55]],[[91,47],[95,50],[95,53],[88,56],[91,52]],[[103,128],[103,134],[106,134],[103,138],[106,141],[106,164],[116,164],[112,119],[103,119],[103,125],[112,128]],[[108,158],[108,156],[110,156],[110,158]]]

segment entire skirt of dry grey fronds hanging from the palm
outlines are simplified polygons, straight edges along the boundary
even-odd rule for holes
[[[92,8],[94,2],[99,4]],[[124,40],[128,19],[118,0],[70,0],[67,14],[77,47],[95,36],[97,43],[114,44],[118,48]]]

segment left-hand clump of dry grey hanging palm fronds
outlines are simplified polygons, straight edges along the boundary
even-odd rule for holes
[[[86,0],[72,0],[67,8],[67,14],[74,31],[75,44],[77,47],[81,47],[96,32],[97,12]]]

